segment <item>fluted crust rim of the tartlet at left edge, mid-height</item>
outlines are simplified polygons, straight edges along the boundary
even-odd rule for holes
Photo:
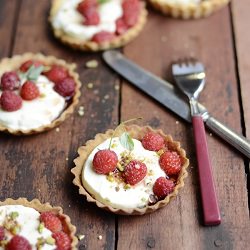
[[[57,59],[54,56],[44,56],[42,54],[25,53],[23,55],[15,55],[11,58],[3,58],[0,62],[0,75],[2,75],[7,70],[14,70],[14,69],[19,68],[19,66],[23,62],[30,60],[30,59],[40,60],[44,62],[46,65],[57,64],[66,68],[69,72],[69,75],[75,80],[75,83],[76,83],[75,94],[72,98],[70,105],[60,114],[60,116],[57,119],[52,121],[50,124],[41,126],[36,129],[30,129],[30,130],[21,130],[21,129],[14,130],[14,129],[5,127],[0,124],[0,131],[2,132],[7,132],[10,134],[14,134],[14,135],[30,135],[30,134],[37,134],[43,131],[50,130],[58,126],[59,124],[61,124],[70,114],[72,114],[76,105],[79,102],[79,97],[81,95],[81,92],[80,92],[81,82],[79,80],[79,75],[75,71],[76,64],[66,63],[66,61],[62,59]]]

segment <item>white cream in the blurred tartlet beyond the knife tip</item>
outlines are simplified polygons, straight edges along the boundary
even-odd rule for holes
[[[83,41],[100,31],[114,33],[116,20],[122,16],[122,0],[109,0],[98,6],[100,23],[98,25],[83,25],[84,17],[77,11],[82,0],[62,0],[57,13],[52,17],[52,26],[65,34]]]

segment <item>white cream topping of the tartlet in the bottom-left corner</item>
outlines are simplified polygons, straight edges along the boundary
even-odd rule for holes
[[[26,238],[32,246],[33,250],[36,250],[36,244],[38,238],[47,239],[52,237],[52,232],[47,228],[44,228],[41,233],[38,232],[38,226],[40,224],[40,213],[35,209],[30,207],[25,207],[22,205],[5,205],[0,206],[0,225],[3,225],[7,216],[10,216],[11,213],[18,213],[18,216],[15,218],[15,221],[21,225],[21,231],[18,235]],[[7,240],[9,241],[13,236],[12,234],[7,234]],[[4,248],[0,246],[0,250]],[[56,245],[44,244],[41,247],[42,250],[52,250],[56,249]]]

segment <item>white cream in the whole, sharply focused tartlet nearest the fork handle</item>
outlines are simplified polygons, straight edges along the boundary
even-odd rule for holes
[[[124,183],[117,181],[109,181],[106,175],[97,174],[92,167],[92,162],[95,153],[101,149],[109,147],[110,139],[107,139],[98,145],[87,158],[83,171],[82,183],[86,190],[97,200],[111,205],[115,208],[142,208],[148,205],[149,196],[153,194],[153,185],[158,177],[166,177],[165,172],[159,165],[159,156],[156,152],[146,150],[140,141],[133,139],[134,149],[130,155],[133,160],[140,160],[147,166],[146,177],[137,183],[124,188]],[[127,151],[119,141],[118,137],[112,139],[111,150],[116,152],[118,159],[121,159],[121,154]]]

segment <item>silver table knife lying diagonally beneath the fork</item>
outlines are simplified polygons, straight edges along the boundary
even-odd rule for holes
[[[105,51],[103,59],[113,70],[137,88],[160,102],[185,121],[191,122],[190,107],[172,84],[136,65],[118,51]],[[250,158],[250,141],[212,117],[202,104],[199,103],[198,106],[206,126]]]

